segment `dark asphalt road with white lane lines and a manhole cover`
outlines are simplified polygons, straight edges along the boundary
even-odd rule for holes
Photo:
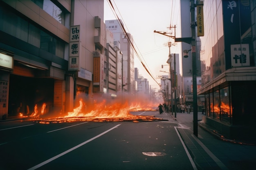
[[[0,170],[193,170],[177,124],[165,121],[0,122]]]

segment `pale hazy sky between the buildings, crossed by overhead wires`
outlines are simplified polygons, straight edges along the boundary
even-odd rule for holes
[[[159,89],[159,75],[168,75],[165,72],[169,72],[166,63],[169,55],[168,42],[173,43],[171,53],[180,53],[180,42],[175,44],[172,38],[166,36],[174,36],[174,29],[169,27],[176,26],[176,37],[179,37],[180,0],[104,0],[104,22],[117,20],[109,2],[112,2],[126,31],[132,35],[139,57],[156,81],[148,74],[137,55],[134,57],[134,67],[139,69],[139,75],[148,79],[151,88]],[[154,30],[168,34],[154,33]],[[162,68],[162,65],[166,66]]]

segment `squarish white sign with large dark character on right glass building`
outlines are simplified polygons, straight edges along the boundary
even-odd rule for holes
[[[231,66],[241,67],[250,66],[249,44],[231,45]]]

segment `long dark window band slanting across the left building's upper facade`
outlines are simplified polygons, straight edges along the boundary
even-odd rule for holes
[[[41,31],[39,27],[0,6],[0,30],[24,42],[64,58],[65,42]]]

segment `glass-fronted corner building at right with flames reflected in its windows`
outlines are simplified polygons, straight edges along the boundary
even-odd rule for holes
[[[204,121],[220,135],[256,139],[256,1],[204,1],[200,37]]]

